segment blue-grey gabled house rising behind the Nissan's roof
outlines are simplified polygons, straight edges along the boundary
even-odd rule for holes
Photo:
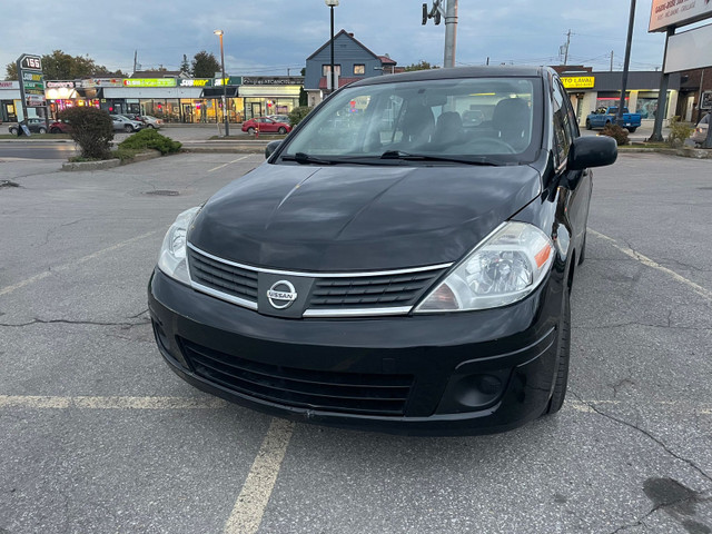
[[[329,92],[328,76],[332,71],[330,40],[307,58],[304,89],[309,106],[319,103]],[[352,81],[398,72],[397,62],[388,56],[377,56],[346,30],[334,36],[334,70],[338,77],[338,87]]]

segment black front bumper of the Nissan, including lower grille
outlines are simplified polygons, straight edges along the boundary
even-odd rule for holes
[[[407,434],[507,431],[544,413],[557,365],[561,276],[505,308],[284,319],[156,269],[148,301],[169,366],[194,386],[295,421]]]

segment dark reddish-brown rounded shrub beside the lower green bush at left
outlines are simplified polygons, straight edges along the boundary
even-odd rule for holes
[[[93,107],[77,107],[60,111],[58,118],[71,126],[71,138],[79,145],[82,158],[111,157],[113,122],[109,113]]]

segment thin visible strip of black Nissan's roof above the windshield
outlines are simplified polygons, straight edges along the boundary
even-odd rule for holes
[[[527,66],[488,66],[488,67],[456,67],[454,69],[416,70],[397,75],[375,76],[352,83],[349,87],[370,86],[377,83],[394,83],[419,80],[447,80],[457,78],[541,78],[547,72],[546,67]]]

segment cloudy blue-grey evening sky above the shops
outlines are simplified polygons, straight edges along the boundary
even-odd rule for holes
[[[340,0],[335,32],[354,33],[376,55],[399,66],[421,60],[443,65],[445,23],[422,26],[425,0]],[[432,0],[427,0],[428,6]],[[631,70],[655,70],[664,34],[647,33],[652,0],[639,0]],[[222,29],[226,71],[231,76],[298,75],[305,60],[329,40],[324,0],[113,0],[58,6],[17,2],[0,24],[0,79],[22,53],[62,50],[89,56],[125,73],[134,53],[144,70],[178,70],[201,51],[220,58],[215,29]],[[630,2],[624,0],[459,0],[456,66],[561,65],[571,31],[568,65],[623,69]],[[12,20],[10,20],[12,19]]]

